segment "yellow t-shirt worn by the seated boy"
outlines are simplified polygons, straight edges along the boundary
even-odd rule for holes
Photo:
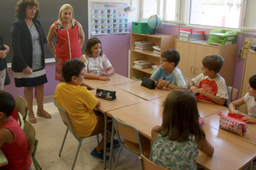
[[[67,111],[77,136],[87,137],[92,134],[98,123],[98,117],[93,112],[98,99],[87,87],[59,83],[54,92],[54,99]]]

